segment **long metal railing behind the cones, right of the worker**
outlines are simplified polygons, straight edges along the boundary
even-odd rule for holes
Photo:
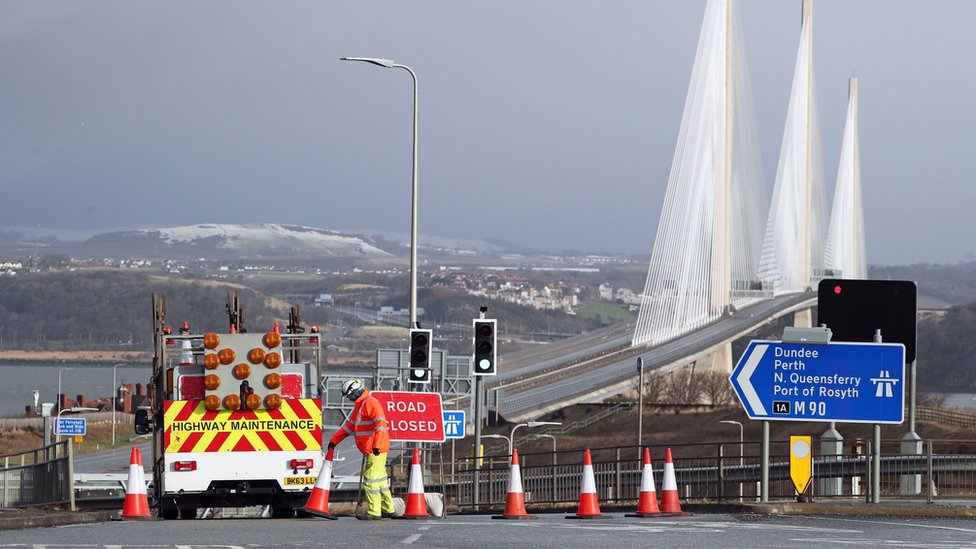
[[[920,453],[904,452],[905,442],[886,440],[881,447],[879,497],[918,499],[976,499],[976,441],[924,440]],[[740,448],[742,453],[740,454]],[[665,447],[650,447],[658,493],[664,485]],[[689,502],[759,501],[762,475],[758,442],[684,444],[670,446],[679,496]],[[873,453],[870,441],[849,442],[841,454],[822,454],[814,448],[813,479],[807,496],[814,499],[870,501]],[[630,505],[641,484],[642,454],[636,447],[591,449],[593,475],[601,502]],[[510,478],[510,456],[494,454],[460,458],[445,464],[436,452],[428,457],[425,486],[445,492],[460,509],[475,506],[477,479],[479,509],[502,509]],[[519,453],[522,487],[527,505],[539,507],[579,502],[583,451]],[[790,479],[788,441],[771,441],[769,498],[794,499]],[[477,466],[477,467],[476,467]],[[397,475],[406,482],[406,471]]]

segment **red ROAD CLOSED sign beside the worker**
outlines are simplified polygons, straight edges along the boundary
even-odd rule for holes
[[[390,440],[444,442],[440,393],[373,391],[390,424]]]

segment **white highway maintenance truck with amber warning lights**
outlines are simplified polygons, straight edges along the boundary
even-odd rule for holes
[[[152,301],[149,404],[135,420],[152,434],[150,506],[164,519],[250,506],[295,516],[323,458],[318,334],[304,333],[297,308],[284,333],[247,333],[230,292],[226,333],[173,333],[165,296]]]

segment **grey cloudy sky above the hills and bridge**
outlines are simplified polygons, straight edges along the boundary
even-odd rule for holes
[[[738,0],[767,186],[799,0]],[[0,2],[0,226],[290,223],[649,254],[704,0]],[[868,263],[976,260],[976,2],[814,0],[828,199]],[[771,194],[771,193],[770,193]]]

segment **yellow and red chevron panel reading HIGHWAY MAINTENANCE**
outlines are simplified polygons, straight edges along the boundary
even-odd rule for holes
[[[167,400],[163,446],[167,452],[321,450],[321,402],[286,399],[277,410],[211,412],[202,400]]]

